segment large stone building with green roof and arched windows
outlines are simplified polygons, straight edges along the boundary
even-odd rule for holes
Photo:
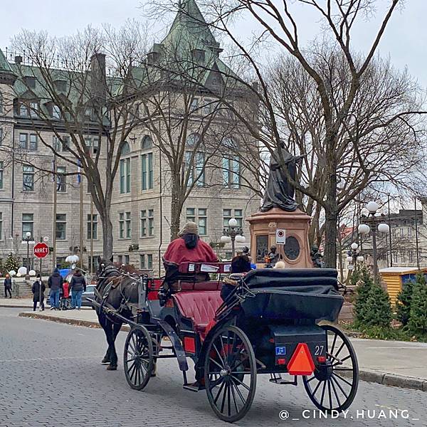
[[[204,57],[214,52],[215,66],[218,70],[226,69],[219,58],[219,43],[208,26],[203,25],[203,17],[195,2],[187,1],[183,7],[186,9],[178,12],[167,37],[162,43],[154,45],[149,56],[154,60],[164,43],[184,35],[187,41],[192,40],[194,46],[197,46],[192,55],[196,52],[198,56]],[[197,14],[196,21],[191,19],[192,14]],[[202,36],[194,31],[195,26],[202,31]],[[187,43],[187,46],[190,44]],[[28,100],[33,102],[35,97],[42,97],[38,95],[38,90],[41,90],[38,82],[31,81],[31,74],[28,74],[28,81],[23,85],[16,73],[16,67],[22,64],[23,58],[6,56],[0,51],[0,144],[5,147],[4,150],[0,149],[0,258],[5,258],[10,252],[26,258],[27,246],[22,240],[29,231],[34,241],[48,236],[50,246],[55,236],[56,259],[51,254],[43,268],[51,269],[53,265],[62,264],[68,255],[80,248],[80,214],[83,214],[83,262],[95,267],[97,255],[102,254],[102,227],[100,216],[91,204],[88,183],[80,176],[60,175],[60,172],[77,172],[75,165],[64,160],[70,156],[66,149],[68,135],[61,135],[62,141],[59,142],[58,137],[45,130],[43,123],[38,122],[34,115],[36,108],[46,109],[49,115],[58,120],[60,129],[59,112],[55,105],[48,102],[28,107]],[[31,65],[26,66],[31,70]],[[210,75],[208,78],[218,79],[218,75]],[[65,83],[58,78],[56,84],[60,87]],[[28,96],[28,88],[32,88],[31,97]],[[201,91],[194,95],[192,102],[200,105],[201,111],[206,111],[211,100]],[[218,119],[220,122],[216,120],[212,124],[213,127],[221,126],[221,120],[228,120],[227,116],[221,117]],[[230,144],[231,140],[243,144],[243,130],[237,126],[233,132],[236,135],[228,135],[224,139],[225,145]],[[189,133],[190,145],[191,138],[197,134],[196,131]],[[85,139],[88,152],[96,154],[100,146],[97,130],[92,130],[88,125]],[[53,154],[50,144],[56,147],[60,156]],[[16,159],[18,154],[19,161]],[[105,156],[103,152],[100,153],[102,156]],[[23,158],[28,159],[28,164],[22,161]],[[212,159],[184,203],[181,224],[188,220],[195,221],[199,225],[201,238],[215,246],[223,234],[223,226],[227,226],[232,217],[236,218],[238,226],[243,228],[243,234],[248,238],[248,226],[244,220],[258,210],[259,199],[251,189],[241,185],[241,177],[246,172],[227,154],[226,146],[219,149]],[[42,170],[35,170],[31,166],[35,163]],[[57,179],[53,179],[49,173],[53,163],[58,173]],[[193,167],[195,173],[200,172],[197,164],[189,167]],[[130,263],[157,273],[161,270],[162,253],[167,248],[171,234],[172,194],[168,185],[169,175],[165,153],[154,143],[152,132],[144,125],[135,127],[122,145],[110,215],[114,230],[115,260],[120,263]],[[246,179],[251,181],[250,176],[246,176]],[[80,185],[83,211],[80,210]],[[90,258],[91,253],[93,258]],[[221,247],[220,255],[229,258],[231,248]],[[25,265],[25,261],[23,263]]]

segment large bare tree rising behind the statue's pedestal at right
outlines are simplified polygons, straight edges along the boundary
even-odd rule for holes
[[[170,8],[170,2],[166,3]],[[319,206],[315,208],[317,212],[320,212],[320,209],[325,211],[325,263],[329,267],[334,267],[337,259],[339,212],[369,184],[371,176],[376,174],[371,167],[383,162],[384,157],[390,154],[390,150],[384,152],[384,136],[389,133],[394,136],[396,131],[403,127],[408,135],[412,132],[413,138],[419,137],[417,132],[413,132],[413,122],[408,122],[408,118],[423,112],[423,109],[419,108],[421,105],[419,100],[415,103],[405,102],[398,107],[394,103],[390,105],[387,102],[387,97],[392,94],[386,93],[386,90],[381,91],[385,95],[381,99],[373,91],[369,100],[364,100],[362,96],[363,93],[367,93],[363,82],[369,84],[369,75],[376,68],[371,65],[376,49],[392,14],[402,1],[389,1],[365,55],[354,53],[352,36],[354,27],[360,19],[369,16],[373,11],[373,0],[327,2],[285,0],[280,4],[271,0],[205,0],[199,3],[203,4],[209,12],[212,28],[225,33],[238,48],[241,56],[251,65],[253,78],[258,85],[249,83],[246,85],[258,98],[263,115],[268,119],[266,120],[268,125],[264,124],[260,128],[255,126],[255,122],[240,118],[243,119],[251,134],[254,137],[257,136],[260,144],[267,147],[271,154],[275,148],[278,149],[278,162],[281,164],[284,164],[279,144],[283,139],[283,120],[278,115],[268,78],[263,73],[263,66],[260,65],[257,46],[264,41],[275,43],[274,46],[278,51],[285,51],[294,58],[300,75],[302,73],[305,77],[304,81],[309,83],[307,89],[315,90],[315,93],[312,93],[312,96],[316,97],[315,107],[317,106],[318,116],[315,124],[320,129],[316,132],[316,137],[319,138],[317,141],[319,152],[315,153],[312,159],[314,159],[315,171],[320,164],[321,181],[316,182],[315,186],[306,186],[303,181],[295,181],[294,184],[297,191],[311,199],[315,206]],[[323,46],[327,48],[315,44],[307,48],[302,46],[299,23],[295,15],[295,9],[298,6],[310,8],[317,14],[325,39]],[[233,26],[233,20],[238,19],[241,14],[250,16],[260,28],[260,36],[250,46],[239,40]],[[245,80],[242,80],[242,83],[244,84]],[[337,83],[339,83],[338,87]],[[376,88],[381,88],[381,85],[378,84]],[[299,90],[302,89],[299,88]],[[404,95],[400,93],[398,97],[393,97],[394,100],[403,98]],[[377,102],[376,110],[370,106],[372,101]],[[294,106],[298,107],[295,102]],[[359,116],[354,115],[355,110],[359,110]],[[298,112],[295,110],[296,114]],[[360,129],[362,125],[364,130]],[[376,139],[379,133],[383,135],[382,142],[378,149],[369,153],[369,142]],[[292,144],[295,144],[295,141],[292,141]],[[311,141],[310,144],[312,144]],[[305,153],[302,152],[302,154]],[[307,166],[310,165],[306,165],[306,173],[309,171]],[[342,188],[347,192],[341,190],[342,180],[345,183]],[[340,193],[342,193],[341,200]]]

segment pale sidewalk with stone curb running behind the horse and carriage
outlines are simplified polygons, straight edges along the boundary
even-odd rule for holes
[[[3,300],[0,300],[0,304]],[[13,300],[9,300],[13,301]],[[31,305],[32,307],[32,305]],[[95,310],[25,311],[21,317],[100,327]],[[123,327],[128,330],[128,327]],[[427,391],[427,343],[350,338],[359,361],[360,379]]]

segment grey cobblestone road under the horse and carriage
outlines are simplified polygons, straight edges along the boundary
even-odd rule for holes
[[[105,371],[100,364],[105,352],[101,330],[20,318],[18,312],[0,308],[0,427],[227,425],[214,416],[204,391],[182,389],[174,359],[159,362],[157,378],[145,391],[133,391],[121,366]],[[122,332],[117,338],[119,354],[125,336]],[[302,384],[275,386],[258,376],[252,409],[236,425],[426,426],[426,396],[361,382],[347,419],[325,420]],[[394,410],[399,410],[397,420]],[[280,420],[280,411],[288,411],[289,418]]]

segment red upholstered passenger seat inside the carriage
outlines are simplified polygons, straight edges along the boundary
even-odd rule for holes
[[[218,290],[181,291],[172,297],[181,315],[193,321],[194,330],[202,337],[206,326],[214,319],[216,310],[223,302],[221,292]]]

